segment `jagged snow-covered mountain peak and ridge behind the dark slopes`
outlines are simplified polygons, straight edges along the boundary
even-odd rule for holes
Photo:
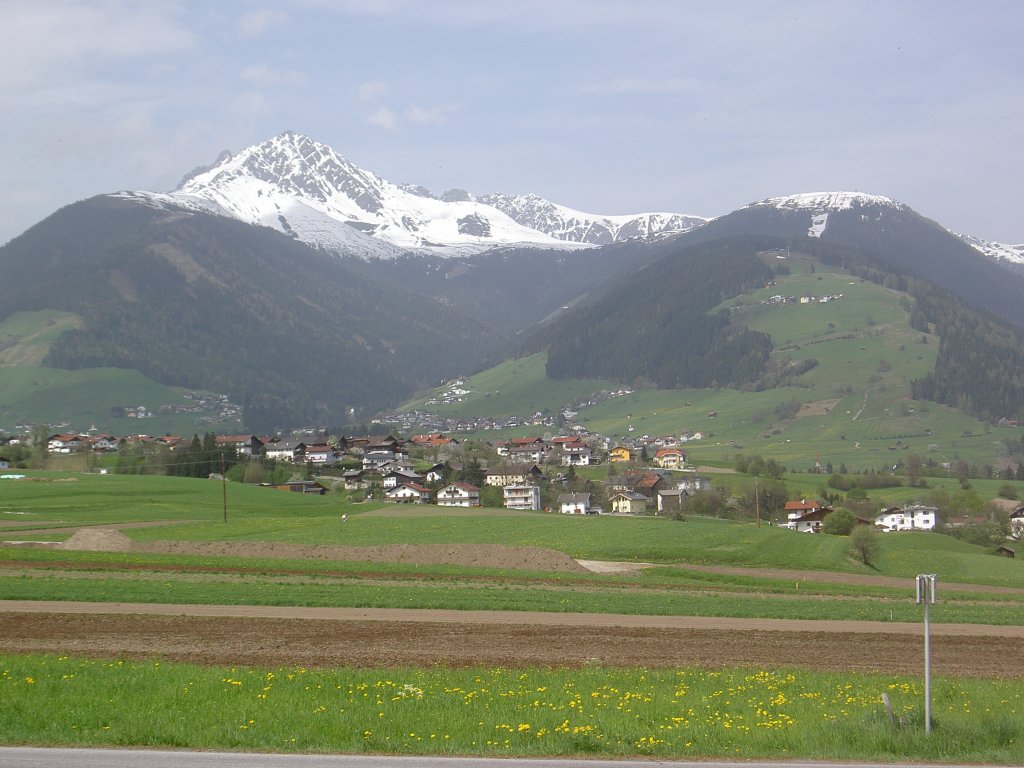
[[[686,231],[679,214],[597,216],[535,196],[432,196],[356,167],[294,132],[223,154],[167,194],[120,193],[159,207],[201,210],[278,229],[317,248],[360,257],[407,252],[468,255],[497,247],[587,248]]]

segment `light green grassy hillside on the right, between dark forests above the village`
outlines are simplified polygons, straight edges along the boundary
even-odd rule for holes
[[[1015,431],[910,399],[910,381],[934,367],[939,339],[910,328],[903,294],[811,261],[795,261],[792,269],[776,285],[716,308],[729,308],[736,322],[771,336],[779,386],[636,391],[582,410],[578,421],[617,439],[699,431],[705,438],[688,444],[691,459],[712,464],[731,464],[737,452],[774,457],[799,469],[815,462],[846,464],[850,470],[881,468],[907,453],[937,462],[998,462],[1000,438]],[[765,303],[775,295],[840,294],[827,303]],[[816,365],[790,374],[809,367],[804,362],[809,359]],[[456,418],[527,416],[620,386],[601,380],[549,381],[544,364],[543,353],[508,360],[471,377],[470,394],[462,402],[435,407],[421,399],[416,404]]]

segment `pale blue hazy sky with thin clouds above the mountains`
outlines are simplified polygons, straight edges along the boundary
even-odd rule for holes
[[[435,194],[884,195],[1024,243],[1018,0],[0,0],[0,244],[286,130]]]

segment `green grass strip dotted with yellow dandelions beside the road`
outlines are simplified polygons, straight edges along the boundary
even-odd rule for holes
[[[933,680],[931,735],[915,678],[784,669],[308,670],[0,656],[0,732],[12,744],[1024,762],[1018,681]]]

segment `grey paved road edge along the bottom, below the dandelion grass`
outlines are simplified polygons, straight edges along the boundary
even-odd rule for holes
[[[0,748],[3,768],[894,768],[894,763],[674,762],[657,760],[531,760],[509,758],[254,755],[158,750]],[[906,765],[910,765],[907,763]],[[943,768],[982,768],[950,766]]]

